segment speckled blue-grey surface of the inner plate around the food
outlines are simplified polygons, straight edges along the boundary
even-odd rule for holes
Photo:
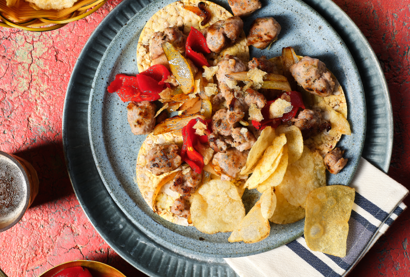
[[[271,250],[290,242],[303,232],[303,220],[294,224],[271,224],[269,237],[254,244],[229,243],[230,233],[204,234],[194,227],[178,226],[153,213],[134,183],[138,150],[145,136],[131,133],[126,104],[107,86],[118,73],[138,73],[136,45],[146,21],[161,7],[172,3],[156,1],[141,10],[115,36],[105,52],[93,81],[89,103],[89,134],[94,160],[107,190],[116,204],[139,229],[170,247],[211,257],[235,257]],[[222,6],[227,6],[222,3]],[[324,19],[301,1],[273,1],[244,21],[245,32],[253,19],[273,16],[282,27],[279,40],[270,50],[251,47],[251,57],[278,56],[282,47],[293,46],[297,54],[317,57],[335,74],[346,94],[351,136],[343,136],[339,146],[346,149],[348,165],[338,175],[328,175],[328,184],[348,185],[362,152],[365,134],[363,88],[354,60],[339,35]],[[256,198],[252,198],[248,209]],[[249,201],[247,201],[249,202]]]

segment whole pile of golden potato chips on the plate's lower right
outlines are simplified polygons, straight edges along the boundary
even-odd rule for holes
[[[344,256],[354,189],[326,186],[325,169],[322,156],[303,145],[299,128],[267,127],[241,170],[242,176],[252,173],[246,183],[215,179],[203,184],[192,197],[192,223],[208,234],[232,232],[230,242],[255,243],[269,236],[269,221],[290,224],[306,215],[308,246]],[[246,215],[244,188],[262,193]]]

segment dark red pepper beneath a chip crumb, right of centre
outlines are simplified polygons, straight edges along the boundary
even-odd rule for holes
[[[284,98],[282,97],[284,96],[284,94],[290,97],[291,104],[293,106],[292,110],[288,113],[284,113],[282,117],[269,119],[269,108],[271,107],[271,104],[274,103],[276,99],[278,98]],[[281,121],[286,122],[294,118],[299,108],[303,108],[303,109],[305,108],[303,101],[302,101],[302,95],[300,95],[300,92],[298,91],[283,92],[276,99],[272,101],[268,101],[266,105],[262,108],[261,110],[262,116],[263,118],[266,118],[266,119],[262,120],[261,122],[252,121],[252,125],[256,129],[263,130],[267,126],[276,128],[279,126]]]

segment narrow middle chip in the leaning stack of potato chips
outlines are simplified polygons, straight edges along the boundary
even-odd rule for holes
[[[262,159],[258,162],[252,175],[249,177],[247,181],[248,189],[256,188],[275,172],[283,155],[283,146],[285,144],[286,136],[284,134],[280,134],[274,138],[272,145],[266,149]]]

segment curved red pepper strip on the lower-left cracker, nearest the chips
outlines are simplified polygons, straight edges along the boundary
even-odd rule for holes
[[[195,149],[198,140],[200,143],[207,143],[208,137],[207,135],[197,135],[195,133],[195,129],[193,128],[194,125],[200,121],[201,123],[207,125],[208,130],[208,123],[201,118],[195,118],[190,120],[188,124],[182,128],[182,137],[183,137],[183,144],[181,149],[181,158],[182,161],[189,164],[189,166],[198,174],[202,172],[203,169],[203,157],[202,155]]]

